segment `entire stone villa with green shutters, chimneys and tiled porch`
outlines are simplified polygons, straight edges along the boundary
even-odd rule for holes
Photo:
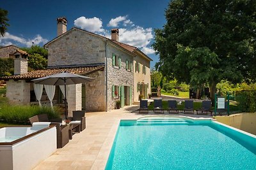
[[[48,50],[48,67],[28,72],[26,56],[15,54],[15,74],[4,77],[6,96],[13,103],[37,104],[31,80],[67,71],[94,78],[92,82],[68,85],[68,114],[72,110],[108,111],[138,101],[150,93],[150,57],[135,46],[118,41],[118,29],[111,39],[73,27],[67,31],[67,19],[57,19],[58,36],[44,45]],[[41,101],[47,102],[43,92]],[[54,104],[63,104],[60,87],[56,87]]]

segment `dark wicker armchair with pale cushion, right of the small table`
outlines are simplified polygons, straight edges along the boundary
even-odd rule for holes
[[[80,131],[83,131],[86,128],[86,117],[84,110],[73,111],[73,117],[68,117],[68,120],[71,121],[70,124],[81,124]]]

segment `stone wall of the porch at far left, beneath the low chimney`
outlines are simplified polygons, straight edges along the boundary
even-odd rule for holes
[[[30,103],[30,83],[25,80],[6,81],[6,97],[10,103],[29,104]]]

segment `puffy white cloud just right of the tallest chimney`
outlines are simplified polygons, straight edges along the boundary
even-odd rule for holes
[[[104,29],[102,28],[102,21],[97,17],[79,17],[74,20],[74,25],[90,32],[104,32]]]

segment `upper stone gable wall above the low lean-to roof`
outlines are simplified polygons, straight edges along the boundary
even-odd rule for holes
[[[45,47],[48,48],[48,66],[105,62],[105,46],[102,38],[76,28]]]

